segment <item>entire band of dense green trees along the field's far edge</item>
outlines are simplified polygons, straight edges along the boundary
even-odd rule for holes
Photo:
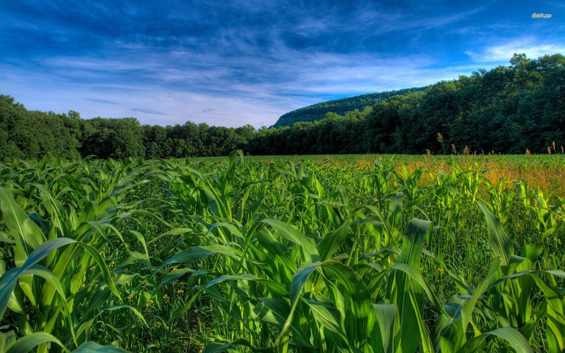
[[[553,142],[557,143],[554,147]],[[218,156],[260,154],[561,152],[565,145],[565,56],[480,70],[426,90],[393,95],[362,111],[327,112],[319,121],[258,130],[194,124],[141,125],[133,117],[82,119],[28,111],[0,95],[0,159]]]

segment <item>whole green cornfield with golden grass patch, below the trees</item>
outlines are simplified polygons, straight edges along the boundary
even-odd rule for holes
[[[0,351],[564,352],[563,184],[562,154],[0,164]]]

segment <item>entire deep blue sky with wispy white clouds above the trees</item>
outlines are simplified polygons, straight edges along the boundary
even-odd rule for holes
[[[334,98],[565,54],[554,2],[0,0],[0,94],[28,109],[271,125]],[[551,18],[532,18],[533,13]]]

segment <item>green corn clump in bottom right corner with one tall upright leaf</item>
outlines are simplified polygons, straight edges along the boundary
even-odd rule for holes
[[[547,316],[548,325],[545,351],[560,352],[563,349],[563,296],[555,287],[554,277],[565,278],[565,272],[560,270],[544,271],[536,269],[534,264],[541,254],[541,244],[529,244],[524,248],[524,256],[514,255],[514,246],[506,236],[502,223],[490,212],[488,207],[479,202],[479,207],[486,217],[489,243],[492,247],[494,260],[483,281],[474,290],[461,285],[462,293],[454,295],[445,306],[447,315],[440,317],[433,329],[434,346],[441,352],[467,352],[486,349],[485,339],[496,335],[501,351],[531,351],[531,341],[536,325]],[[540,274],[549,276],[550,289],[539,277]],[[534,285],[545,297],[532,298]],[[481,297],[488,295],[486,302]],[[550,314],[547,313],[547,303],[551,300]],[[556,312],[554,312],[554,310]],[[480,325],[473,323],[473,311],[477,311],[484,320],[481,333]],[[494,316],[493,316],[494,315]],[[467,325],[472,324],[475,337],[467,340]],[[500,335],[501,330],[504,330]],[[490,342],[490,346],[496,341]]]

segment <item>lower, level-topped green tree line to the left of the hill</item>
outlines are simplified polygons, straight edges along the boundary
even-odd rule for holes
[[[0,160],[38,159],[50,153],[66,158],[166,158],[221,156],[240,149],[257,134],[206,123],[141,125],[134,117],[82,119],[79,113],[29,111],[8,95],[0,95]]]

